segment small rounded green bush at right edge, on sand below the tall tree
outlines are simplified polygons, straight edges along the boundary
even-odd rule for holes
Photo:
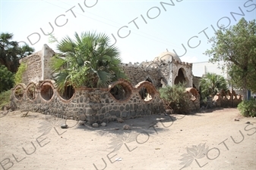
[[[256,116],[256,100],[251,98],[251,100],[243,100],[237,107],[242,116]]]

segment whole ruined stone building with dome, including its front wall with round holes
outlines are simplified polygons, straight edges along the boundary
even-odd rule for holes
[[[186,82],[190,110],[200,108],[198,91],[193,88],[192,64],[182,62],[168,51],[150,62],[122,63],[128,80],[119,79],[108,88],[73,88],[59,93],[52,80],[51,57],[55,54],[48,45],[20,60],[27,65],[22,83],[12,88],[11,105],[63,119],[109,122],[117,118],[135,118],[165,113],[158,88]],[[117,91],[117,86],[122,91]]]

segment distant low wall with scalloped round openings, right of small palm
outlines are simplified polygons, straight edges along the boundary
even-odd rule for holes
[[[216,107],[237,107],[242,102],[242,96],[228,91],[221,91],[213,97],[213,105]]]

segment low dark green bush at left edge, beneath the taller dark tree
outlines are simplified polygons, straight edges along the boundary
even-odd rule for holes
[[[0,93],[14,86],[14,74],[6,66],[0,64]]]

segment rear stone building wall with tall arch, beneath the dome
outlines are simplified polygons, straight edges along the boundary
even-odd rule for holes
[[[174,59],[170,62],[166,62],[166,60],[154,60],[134,64],[122,63],[122,69],[128,75],[128,79],[132,85],[147,80],[152,82],[156,88],[174,85],[175,79],[179,76],[179,70],[182,70],[184,79],[187,82],[187,88],[193,87],[191,63],[179,62]]]

